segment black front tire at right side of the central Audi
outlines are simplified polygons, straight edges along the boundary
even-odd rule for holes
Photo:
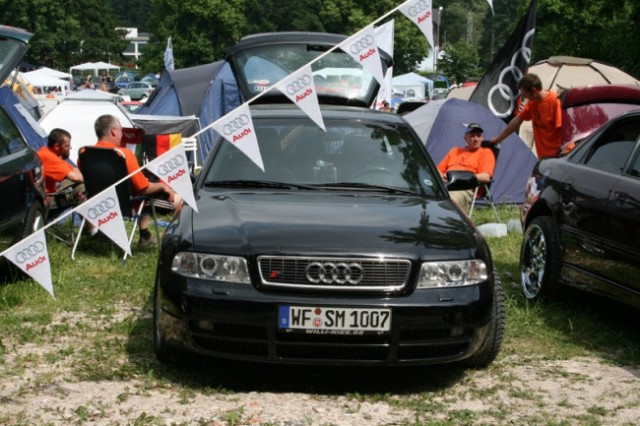
[[[467,358],[464,365],[472,368],[486,368],[496,359],[504,338],[504,289],[496,272],[493,274],[493,307],[489,329],[478,351]]]

